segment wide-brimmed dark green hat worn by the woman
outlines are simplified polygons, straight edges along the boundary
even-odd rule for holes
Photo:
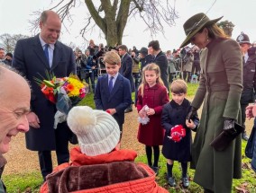
[[[187,38],[182,42],[179,48],[183,48],[190,43],[190,39],[196,35],[202,28],[212,25],[223,18],[219,17],[215,20],[210,20],[205,13],[197,13],[190,17],[187,22],[184,23],[183,28],[187,35]]]

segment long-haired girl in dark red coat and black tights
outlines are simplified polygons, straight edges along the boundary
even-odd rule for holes
[[[148,164],[156,173],[159,171],[160,145],[162,145],[164,136],[164,130],[160,124],[161,111],[167,102],[169,102],[169,95],[160,78],[160,67],[154,63],[143,67],[137,110],[140,118],[148,116],[150,121],[147,124],[140,124],[138,141],[146,145]],[[145,105],[148,106],[146,110],[143,108]],[[153,164],[152,149],[154,153]]]

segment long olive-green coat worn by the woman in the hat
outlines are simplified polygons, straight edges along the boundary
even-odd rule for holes
[[[242,177],[241,135],[222,152],[209,145],[224,128],[224,118],[241,123],[242,54],[233,39],[214,39],[200,54],[201,75],[192,106],[204,101],[192,145],[194,181],[215,193],[232,191],[233,178]]]

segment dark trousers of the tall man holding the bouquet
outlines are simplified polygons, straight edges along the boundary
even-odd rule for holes
[[[67,125],[66,122],[62,124]],[[69,162],[70,135],[71,131],[69,130],[69,127],[58,127],[57,129],[55,129],[56,155],[58,165],[64,162]],[[38,156],[41,175],[43,177],[43,180],[45,180],[46,176],[52,172],[51,151],[39,151]]]

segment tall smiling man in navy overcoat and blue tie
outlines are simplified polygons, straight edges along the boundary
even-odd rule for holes
[[[76,63],[72,49],[58,41],[61,21],[57,13],[50,10],[42,12],[40,28],[41,33],[37,36],[17,42],[13,66],[32,85],[32,112],[27,115],[30,130],[26,133],[26,147],[38,151],[41,175],[45,180],[52,171],[50,151],[56,150],[58,164],[69,162],[71,131],[67,122],[53,128],[56,106],[46,99],[34,77],[46,77],[46,71],[54,73],[56,77],[69,76],[76,73]]]

